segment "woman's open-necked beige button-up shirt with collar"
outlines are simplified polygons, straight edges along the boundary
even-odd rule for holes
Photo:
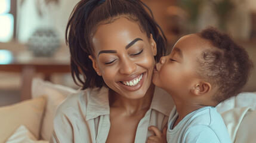
[[[50,142],[106,142],[110,129],[108,94],[109,88],[103,87],[69,95],[55,112]],[[138,123],[134,142],[146,142],[153,135],[149,126],[164,129],[173,107],[171,96],[156,87],[150,108]]]

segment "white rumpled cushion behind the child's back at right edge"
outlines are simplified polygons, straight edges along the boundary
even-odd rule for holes
[[[256,92],[242,92],[217,105],[232,142],[255,142]]]

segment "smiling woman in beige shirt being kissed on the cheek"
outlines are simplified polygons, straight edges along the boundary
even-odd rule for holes
[[[66,30],[73,79],[82,90],[57,109],[51,142],[146,142],[173,105],[152,84],[165,39],[137,0],[82,0]]]

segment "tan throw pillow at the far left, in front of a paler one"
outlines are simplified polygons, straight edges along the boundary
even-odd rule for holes
[[[0,142],[9,138],[20,125],[25,125],[38,139],[45,102],[45,97],[39,97],[1,107]]]

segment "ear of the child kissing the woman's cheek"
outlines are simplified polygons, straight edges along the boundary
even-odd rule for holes
[[[198,84],[196,84],[193,89],[191,90],[193,95],[205,95],[209,91],[211,91],[211,84],[209,82],[201,81]]]

